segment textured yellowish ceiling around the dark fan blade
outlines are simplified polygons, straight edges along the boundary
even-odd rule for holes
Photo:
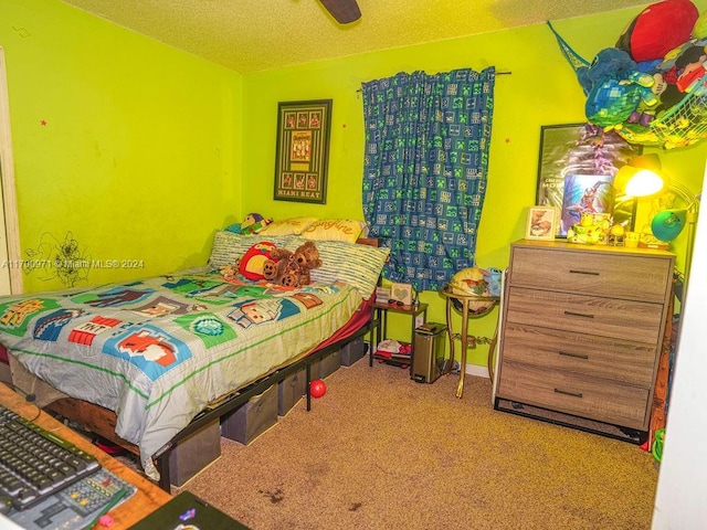
[[[647,3],[641,0],[358,0],[361,19],[339,25],[318,0],[63,1],[240,73]]]

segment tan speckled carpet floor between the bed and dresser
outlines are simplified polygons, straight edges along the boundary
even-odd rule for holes
[[[657,483],[626,442],[494,411],[490,382],[361,360],[187,489],[253,530],[648,529]]]

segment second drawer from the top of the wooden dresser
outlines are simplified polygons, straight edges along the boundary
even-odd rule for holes
[[[663,305],[509,287],[506,320],[544,328],[657,343]]]

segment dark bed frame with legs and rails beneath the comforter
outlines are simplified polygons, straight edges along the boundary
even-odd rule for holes
[[[378,240],[372,239],[359,239],[357,243],[378,246]],[[171,490],[169,456],[181,442],[205,425],[219,420],[230,412],[235,411],[252,398],[262,394],[270,386],[279,383],[285,378],[302,370],[303,368],[306,372],[307,411],[310,411],[312,395],[309,394],[309,382],[312,381],[312,364],[328,354],[340,350],[349,342],[363,337],[367,333],[369,336],[369,344],[373,344],[373,331],[380,326],[380,321],[376,318],[376,311],[373,311],[372,306],[369,307],[368,310],[370,310],[368,322],[352,333],[349,333],[346,338],[315,350],[306,357],[264,375],[257,381],[239,389],[228,398],[220,400],[218,404],[209,406],[199,413],[189,425],[177,433],[167,444],[152,455],[152,459],[155,460],[155,465],[160,475],[158,483],[159,487],[166,491]],[[102,436],[135,455],[140,454],[137,445],[126,442],[115,434],[117,415],[108,409],[74,398],[61,398],[45,405],[44,409],[62,416],[65,420],[84,426],[88,432],[97,434],[98,436]]]

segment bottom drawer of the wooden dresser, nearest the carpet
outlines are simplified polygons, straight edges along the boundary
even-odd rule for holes
[[[645,431],[648,389],[561,370],[504,361],[498,395],[604,423]]]

